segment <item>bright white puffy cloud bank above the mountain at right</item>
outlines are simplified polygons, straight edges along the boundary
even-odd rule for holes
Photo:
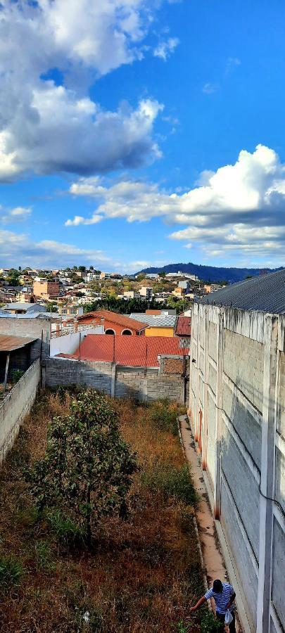
[[[70,193],[94,198],[94,217],[125,217],[128,222],[161,217],[167,224],[184,225],[170,238],[187,248],[198,243],[210,255],[217,250],[227,257],[245,252],[261,258],[283,255],[285,165],[273,149],[258,145],[252,153],[242,150],[234,165],[207,170],[198,183],[186,193],[169,193],[158,184],[106,185],[103,179],[82,178]],[[90,218],[80,224],[90,224]]]

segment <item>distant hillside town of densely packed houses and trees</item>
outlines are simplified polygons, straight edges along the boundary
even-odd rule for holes
[[[181,271],[125,275],[92,266],[59,270],[0,268],[0,310],[25,314],[39,308],[69,319],[92,306],[113,302],[120,312],[146,304],[176,309],[179,314],[190,309],[194,300],[221,287]]]

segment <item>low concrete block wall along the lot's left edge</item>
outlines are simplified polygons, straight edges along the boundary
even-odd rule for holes
[[[40,379],[41,366],[37,359],[0,404],[0,463],[13,446],[20,423],[34,403]]]

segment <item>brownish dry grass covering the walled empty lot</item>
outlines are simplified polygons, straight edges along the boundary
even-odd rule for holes
[[[184,466],[177,437],[159,428],[153,407],[115,402],[141,466],[129,517],[106,520],[94,551],[70,551],[37,520],[23,479],[23,468],[44,454],[49,420],[69,404],[68,392],[43,392],[0,472],[0,558],[13,554],[25,570],[20,587],[0,595],[1,632],[173,633],[203,591],[193,509],[150,490],[143,475]],[[189,632],[199,630],[196,620]]]

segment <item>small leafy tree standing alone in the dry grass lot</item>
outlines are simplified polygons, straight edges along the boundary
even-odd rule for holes
[[[46,455],[30,471],[39,509],[60,507],[84,530],[91,545],[102,516],[125,511],[137,465],[106,397],[86,390],[72,401],[70,415],[49,426]]]

